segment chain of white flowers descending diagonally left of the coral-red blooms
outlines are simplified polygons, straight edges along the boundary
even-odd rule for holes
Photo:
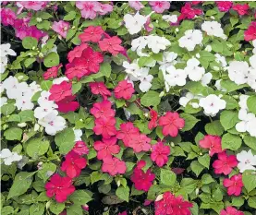
[[[58,115],[55,110],[57,105],[54,101],[49,101],[49,91],[42,91],[38,99],[39,107],[35,108],[34,116],[38,119],[38,124],[45,128],[48,135],[55,136],[58,131],[66,127],[66,120]]]

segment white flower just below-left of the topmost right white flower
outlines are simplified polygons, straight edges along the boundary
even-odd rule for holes
[[[178,40],[178,45],[182,48],[193,51],[197,44],[201,44],[201,30],[186,30],[185,35]]]

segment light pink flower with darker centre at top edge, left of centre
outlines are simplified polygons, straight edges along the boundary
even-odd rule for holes
[[[92,1],[77,1],[76,6],[80,9],[82,18],[96,18],[97,12],[100,12],[102,9],[99,2]]]

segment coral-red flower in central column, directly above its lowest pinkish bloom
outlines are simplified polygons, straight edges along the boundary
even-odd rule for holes
[[[120,147],[116,145],[116,137],[103,138],[103,141],[96,141],[93,147],[98,151],[97,158],[99,160],[112,158],[113,154],[118,154],[120,151]]]

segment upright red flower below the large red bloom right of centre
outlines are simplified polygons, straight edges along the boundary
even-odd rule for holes
[[[170,151],[169,146],[165,146],[163,142],[158,142],[152,146],[151,159],[155,161],[159,167],[162,167],[168,161]]]

